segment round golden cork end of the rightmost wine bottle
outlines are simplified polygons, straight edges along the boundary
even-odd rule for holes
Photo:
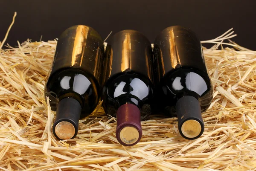
[[[194,119],[189,119],[185,121],[181,126],[181,132],[187,138],[197,137],[201,133],[201,130],[201,124]]]

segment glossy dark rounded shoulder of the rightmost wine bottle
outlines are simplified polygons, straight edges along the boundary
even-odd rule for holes
[[[208,109],[213,98],[213,89],[207,73],[192,68],[179,68],[166,73],[155,92],[155,102],[162,108],[171,110],[177,99],[193,96],[200,102],[201,110]]]

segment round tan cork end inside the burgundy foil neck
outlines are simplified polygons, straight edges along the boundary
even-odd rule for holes
[[[136,128],[128,126],[122,128],[119,133],[119,137],[124,144],[131,145],[138,141],[140,133]]]

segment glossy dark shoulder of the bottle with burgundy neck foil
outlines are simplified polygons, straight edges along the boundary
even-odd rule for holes
[[[112,116],[116,116],[121,105],[129,103],[139,107],[141,119],[145,119],[151,113],[153,84],[148,78],[134,73],[115,75],[104,85],[102,100],[105,112]]]

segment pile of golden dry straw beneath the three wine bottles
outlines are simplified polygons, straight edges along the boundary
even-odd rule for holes
[[[143,138],[133,147],[119,145],[116,119],[98,107],[81,120],[75,139],[59,141],[51,132],[54,112],[44,100],[57,41],[18,44],[0,51],[0,170],[26,171],[255,171],[256,51],[224,35],[202,43],[214,99],[203,113],[205,131],[183,139],[177,118],[142,122]]]

